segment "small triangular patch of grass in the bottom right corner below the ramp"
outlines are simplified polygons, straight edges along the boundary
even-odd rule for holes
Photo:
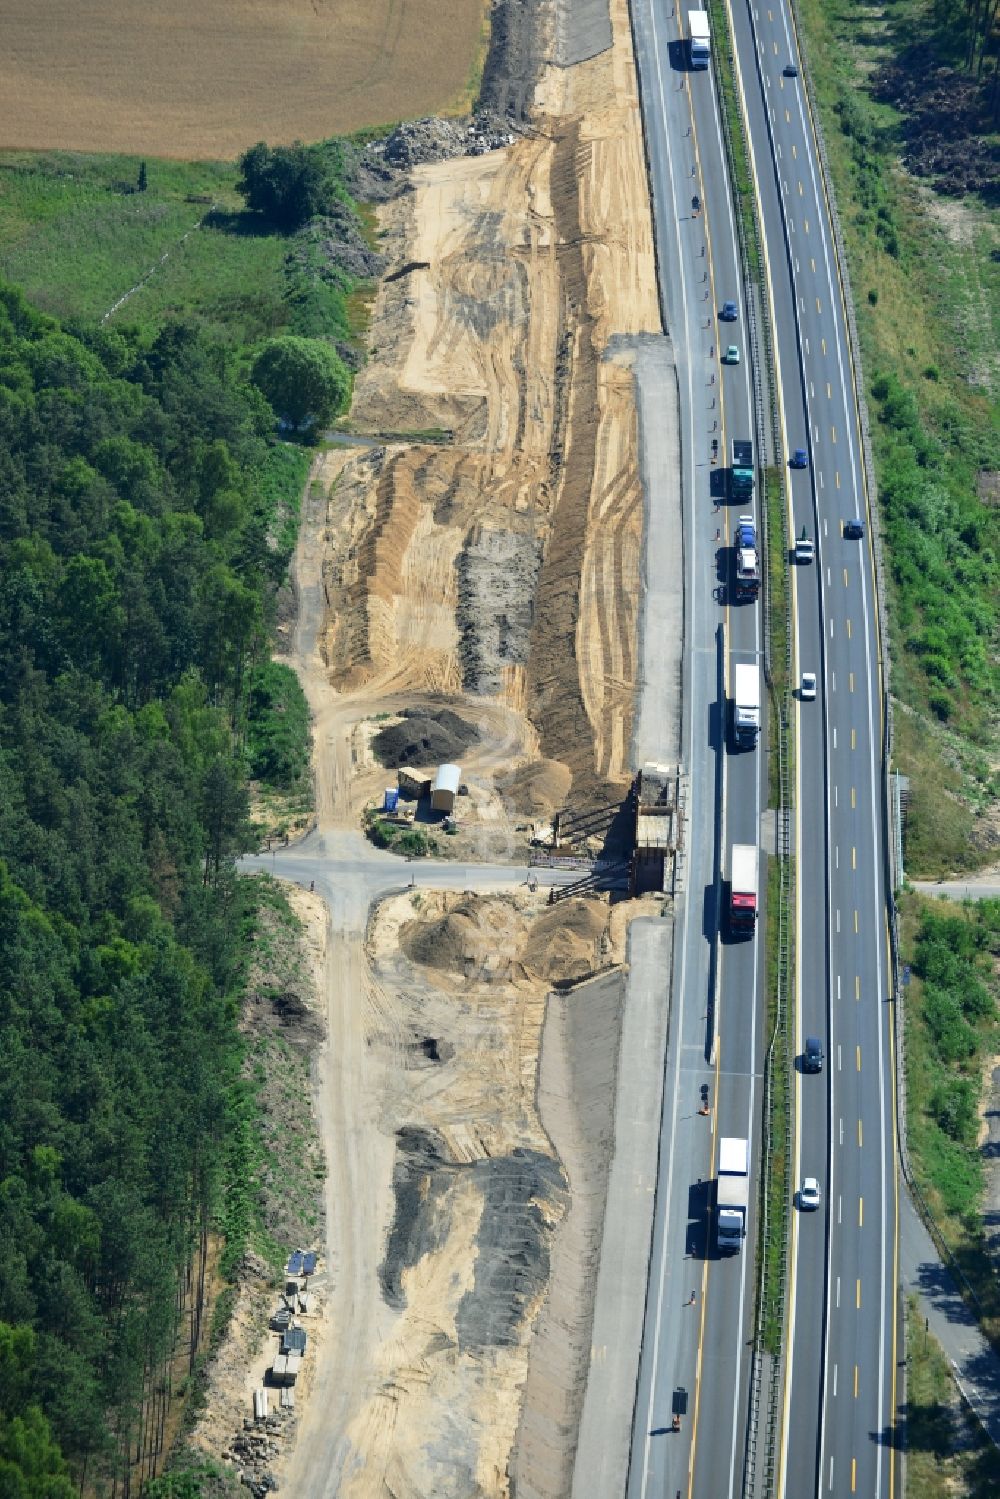
[[[907,1304],[906,1397],[907,1493],[993,1499],[1000,1492],[1000,1453],[963,1405],[916,1297]]]

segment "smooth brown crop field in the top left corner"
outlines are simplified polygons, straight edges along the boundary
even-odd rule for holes
[[[231,157],[439,112],[486,0],[4,0],[0,147]]]

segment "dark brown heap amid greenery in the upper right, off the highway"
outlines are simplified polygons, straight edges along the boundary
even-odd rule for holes
[[[1000,147],[985,81],[940,66],[933,46],[907,48],[876,76],[874,97],[904,115],[903,160],[940,193],[1000,202]],[[990,139],[993,136],[993,139]]]

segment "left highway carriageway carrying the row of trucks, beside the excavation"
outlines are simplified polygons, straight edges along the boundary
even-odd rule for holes
[[[747,1397],[747,1316],[753,1256],[714,1256],[709,1205],[720,1133],[750,1135],[759,1070],[759,944],[718,953],[718,1046],[706,1063],[712,943],[718,925],[715,817],[723,850],[757,842],[762,754],[729,757],[718,627],[738,660],[760,649],[759,610],[729,607],[733,517],[724,495],[729,439],[751,436],[745,306],[711,72],[688,73],[678,18],[639,0],[633,28],[652,180],[664,325],[678,367],[682,433],[685,657],[684,757],[691,772],[688,881],[679,913],[672,1045],[664,1087],[660,1180],[628,1493],[739,1493]],[[697,213],[693,199],[700,201]],[[739,303],[736,324],[717,318]],[[720,352],[736,343],[739,366]],[[718,460],[711,457],[712,439]],[[741,507],[745,508],[745,507]],[[706,1088],[712,1112],[697,1112]],[[753,1223],[751,1223],[753,1235]],[[751,1238],[753,1243],[753,1238]],[[694,1292],[694,1303],[690,1301]],[[678,1391],[681,1433],[669,1432]],[[708,1439],[699,1433],[708,1430]],[[724,1430],[726,1441],[715,1432]]]

